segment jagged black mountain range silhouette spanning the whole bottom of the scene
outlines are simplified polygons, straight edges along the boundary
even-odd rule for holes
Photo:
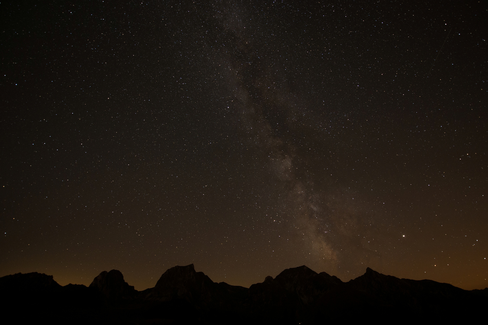
[[[137,291],[118,270],[89,287],[61,287],[33,272],[0,278],[1,317],[9,324],[328,324],[344,321],[486,322],[488,288],[463,290],[366,269],[349,282],[302,266],[250,288],[215,283],[193,264],[168,269]],[[4,323],[7,324],[7,323]]]

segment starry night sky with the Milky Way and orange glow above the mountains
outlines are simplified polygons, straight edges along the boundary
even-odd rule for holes
[[[488,6],[423,2],[1,1],[0,276],[488,287]]]

